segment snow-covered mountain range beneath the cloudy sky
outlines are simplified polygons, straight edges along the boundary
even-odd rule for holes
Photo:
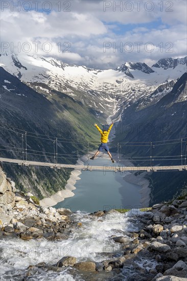
[[[170,66],[175,61],[176,66],[163,68],[163,61]],[[176,81],[186,72],[185,63],[186,58],[162,59],[151,68],[142,62],[125,62],[116,69],[100,70],[69,65],[52,57],[5,53],[0,65],[44,95],[57,90],[97,112],[113,114],[120,111],[122,101],[125,101],[125,107],[140,98],[149,103],[147,97],[162,85],[158,89],[159,95],[154,95],[157,102],[170,89],[167,83]]]

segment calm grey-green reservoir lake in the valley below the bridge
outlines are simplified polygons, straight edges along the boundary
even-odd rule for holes
[[[111,165],[110,158],[98,157],[89,161],[90,165]],[[73,212],[82,210],[95,212],[96,210],[109,210],[121,208],[141,207],[140,186],[125,181],[126,173],[113,173],[106,171],[83,171],[80,180],[75,184],[75,196],[66,198],[55,205],[56,208],[66,207]]]

